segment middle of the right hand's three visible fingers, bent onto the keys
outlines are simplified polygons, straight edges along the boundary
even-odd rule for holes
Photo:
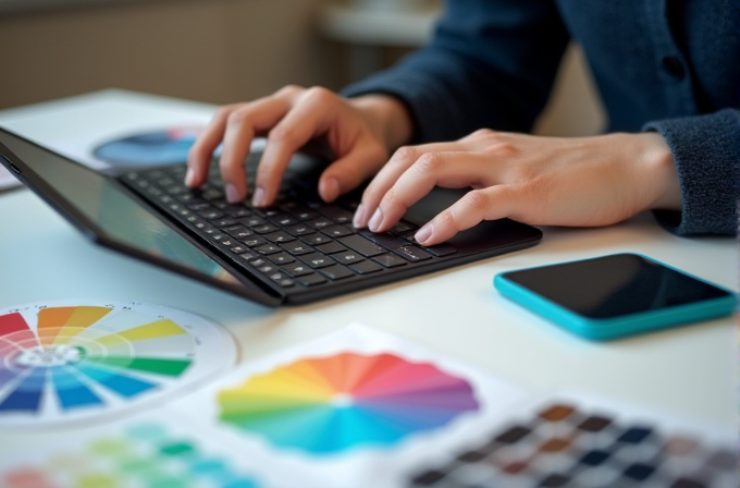
[[[481,152],[442,151],[422,155],[383,196],[370,221],[370,230],[384,232],[391,229],[411,205],[434,186],[490,186],[482,183],[492,180],[486,173],[495,172],[495,167],[485,164],[486,160]]]

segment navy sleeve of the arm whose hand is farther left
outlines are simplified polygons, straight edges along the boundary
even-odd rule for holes
[[[477,129],[529,132],[552,88],[568,34],[552,0],[448,0],[430,45],[344,96],[398,97],[414,143]]]

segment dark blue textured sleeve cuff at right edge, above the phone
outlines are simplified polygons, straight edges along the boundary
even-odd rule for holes
[[[656,210],[661,224],[678,235],[736,234],[740,110],[650,122],[643,130],[665,137],[681,185],[681,211]]]

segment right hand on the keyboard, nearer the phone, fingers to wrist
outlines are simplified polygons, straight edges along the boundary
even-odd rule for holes
[[[473,190],[417,232],[422,245],[481,220],[593,227],[681,208],[673,155],[659,134],[556,138],[481,130],[398,149],[365,191],[354,224],[386,231],[435,185]]]

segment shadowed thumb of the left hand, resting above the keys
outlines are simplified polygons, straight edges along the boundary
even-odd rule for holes
[[[385,147],[369,137],[360,139],[347,155],[323,171],[319,179],[319,195],[324,202],[334,202],[373,175],[385,161]]]

